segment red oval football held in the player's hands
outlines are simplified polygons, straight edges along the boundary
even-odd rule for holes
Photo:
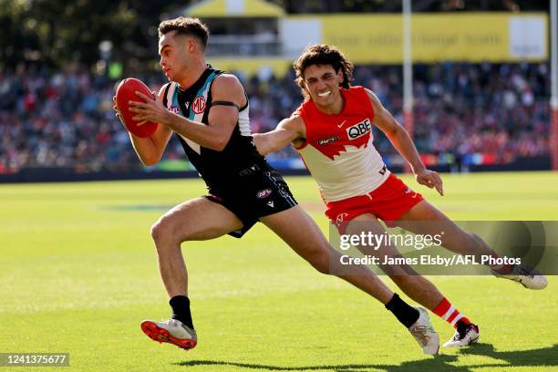
[[[150,135],[155,132],[155,129],[157,129],[158,124],[148,121],[139,126],[138,121],[132,119],[137,114],[129,110],[130,100],[143,102],[143,99],[136,95],[137,91],[143,93],[147,97],[153,96],[150,88],[143,84],[141,80],[137,78],[125,78],[122,80],[117,88],[117,107],[119,108],[126,129],[138,137],[150,137]]]

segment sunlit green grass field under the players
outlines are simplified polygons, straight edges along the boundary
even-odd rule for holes
[[[314,182],[288,178],[327,231]],[[405,178],[415,187],[414,181]],[[430,202],[457,220],[558,220],[558,172],[445,175]],[[183,244],[199,345],[152,342],[170,314],[150,225],[201,181],[0,185],[0,352],[69,352],[79,371],[558,370],[556,277],[543,292],[494,277],[431,279],[480,325],[480,344],[423,356],[386,309],[317,274],[262,225]],[[200,216],[202,218],[202,216]],[[441,341],[452,329],[434,315]],[[17,367],[0,370],[47,370]]]

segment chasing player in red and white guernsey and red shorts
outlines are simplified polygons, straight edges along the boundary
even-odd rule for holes
[[[350,86],[353,65],[341,51],[324,44],[308,47],[294,63],[294,70],[305,102],[276,129],[253,137],[263,155],[293,144],[318,183],[325,215],[340,233],[385,234],[378,222],[382,220],[412,233],[434,235],[443,231],[442,245],[456,253],[497,257],[479,236],[463,231],[387,170],[372,143],[372,125],[382,130],[408,161],[418,183],[444,194],[439,174],[426,169],[407,130],[372,91]],[[374,254],[364,247],[359,249]],[[388,245],[380,251],[398,255],[396,248]],[[408,274],[410,268],[403,265],[382,268],[405,294],[456,328],[444,346],[468,346],[479,339],[479,327],[461,315],[429,280]],[[491,270],[527,288],[542,289],[547,284],[542,274],[522,265],[492,266]]]

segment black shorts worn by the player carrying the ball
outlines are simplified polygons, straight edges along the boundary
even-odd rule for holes
[[[229,235],[240,238],[261,217],[293,208],[297,202],[283,177],[274,169],[258,171],[256,174],[231,181],[231,186],[222,191],[210,190],[205,198],[221,204],[243,222],[243,228]]]

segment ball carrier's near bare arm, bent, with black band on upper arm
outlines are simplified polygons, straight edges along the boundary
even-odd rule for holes
[[[213,106],[209,114],[209,125],[186,119],[166,109],[160,100],[153,101],[136,93],[144,102],[130,102],[130,111],[137,113],[133,119],[155,121],[198,143],[200,146],[221,151],[231,138],[238,121],[238,108],[245,104],[244,88],[233,75],[215,78],[212,85],[212,100],[232,102],[234,106]]]

